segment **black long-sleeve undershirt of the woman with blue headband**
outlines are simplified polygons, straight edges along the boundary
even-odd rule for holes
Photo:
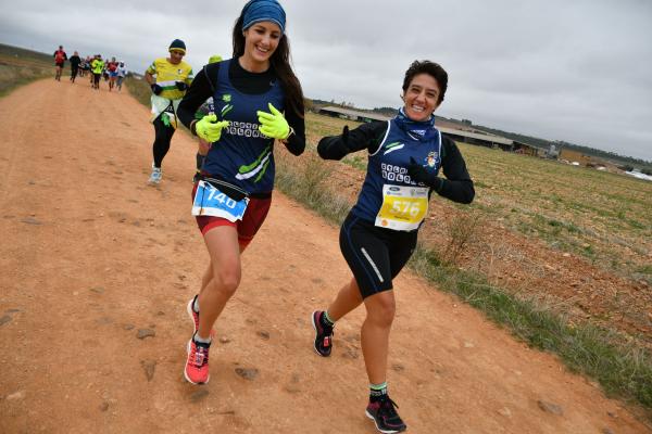
[[[222,63],[212,63],[204,66],[195,77],[192,85],[190,85],[186,95],[179,103],[177,115],[181,123],[196,136],[197,132],[190,127],[192,120],[195,120],[195,113],[201,104],[215,93],[215,80],[217,79],[221,65]],[[229,79],[234,87],[242,93],[264,93],[269,90],[271,82],[277,79],[276,73],[272,67],[264,73],[250,73],[240,66],[237,59],[229,62]],[[301,155],[305,150],[305,122],[292,110],[286,110],[285,117],[288,125],[294,130],[294,133],[284,144],[293,155]]]

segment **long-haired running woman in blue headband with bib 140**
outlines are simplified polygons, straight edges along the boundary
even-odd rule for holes
[[[233,59],[205,65],[179,104],[181,122],[211,143],[192,203],[210,256],[199,294],[187,305],[193,333],[184,374],[193,384],[209,381],[213,324],[240,284],[240,255],[269,209],[275,140],[294,155],[305,148],[303,93],[285,24],[276,0],[246,3],[233,31]],[[196,119],[210,97],[214,114]]]

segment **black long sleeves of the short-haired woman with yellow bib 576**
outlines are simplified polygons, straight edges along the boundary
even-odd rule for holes
[[[378,149],[386,132],[386,122],[362,124],[349,131],[346,141],[342,135],[324,137],[319,140],[317,153],[324,159],[342,159],[347,154],[364,149],[373,153]],[[466,163],[455,142],[443,135],[441,138],[441,169],[446,178],[441,178],[441,187],[436,191],[442,197],[468,204],[475,197],[475,189]]]

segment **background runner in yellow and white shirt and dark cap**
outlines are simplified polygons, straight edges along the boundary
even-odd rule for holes
[[[192,68],[183,61],[186,55],[186,43],[180,39],[172,41],[168,48],[170,58],[159,58],[145,72],[145,79],[152,89],[152,117],[154,125],[154,143],[152,153],[152,174],[149,182],[161,182],[161,166],[172,136],[177,128],[177,107],[186,89],[192,82]]]

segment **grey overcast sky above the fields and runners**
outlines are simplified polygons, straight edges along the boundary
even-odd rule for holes
[[[180,38],[198,71],[229,58],[243,0],[2,2],[0,42],[115,55],[143,72]],[[650,0],[285,0],[306,97],[401,105],[415,59],[440,63],[438,114],[652,161]]]

